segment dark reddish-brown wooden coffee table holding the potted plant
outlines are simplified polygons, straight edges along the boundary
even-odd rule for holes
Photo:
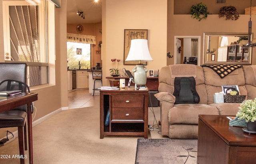
[[[198,164],[255,164],[256,134],[229,126],[224,115],[199,115]]]

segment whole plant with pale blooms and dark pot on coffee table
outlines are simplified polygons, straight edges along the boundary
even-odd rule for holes
[[[256,132],[256,98],[244,101],[236,114],[239,119],[245,119],[248,131]]]

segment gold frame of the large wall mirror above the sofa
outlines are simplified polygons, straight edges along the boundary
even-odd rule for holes
[[[206,61],[207,60],[207,37],[208,36],[248,36],[248,33],[206,33],[204,32],[203,36],[203,64],[242,64],[242,65],[251,65],[252,64],[252,47],[249,47],[248,51],[248,61]],[[252,38],[252,36],[251,36]]]

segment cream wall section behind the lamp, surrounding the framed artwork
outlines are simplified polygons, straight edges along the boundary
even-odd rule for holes
[[[154,61],[146,66],[157,72],[166,65],[167,0],[102,0],[103,85],[109,85],[111,59],[121,59],[122,68],[132,71],[134,65],[123,65],[124,29],[148,29],[148,47]]]

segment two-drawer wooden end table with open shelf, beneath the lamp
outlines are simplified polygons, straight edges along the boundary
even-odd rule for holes
[[[148,90],[100,90],[100,138],[104,135],[148,138]]]

